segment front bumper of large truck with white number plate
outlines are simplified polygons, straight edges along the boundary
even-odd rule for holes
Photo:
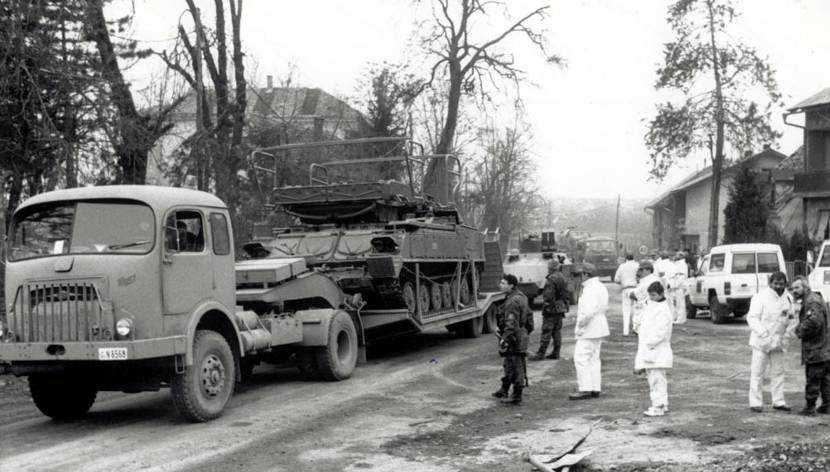
[[[118,359],[110,359],[113,349]],[[121,357],[126,349],[126,356]],[[0,343],[0,364],[29,361],[132,361],[183,355],[187,351],[186,336],[140,339],[135,341]]]

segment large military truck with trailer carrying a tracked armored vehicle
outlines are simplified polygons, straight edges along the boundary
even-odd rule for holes
[[[411,185],[277,189],[305,230],[246,245],[260,257],[241,262],[228,208],[204,192],[32,197],[8,236],[0,374],[28,376],[35,405],[55,419],[84,415],[99,391],[169,387],[182,416],[208,421],[258,362],[343,380],[372,335],[494,329],[504,294],[478,291],[480,234]]]

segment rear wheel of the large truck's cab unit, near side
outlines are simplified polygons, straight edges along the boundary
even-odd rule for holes
[[[357,365],[357,330],[348,313],[339,311],[329,325],[329,341],[317,350],[317,368],[325,380],[351,377]]]

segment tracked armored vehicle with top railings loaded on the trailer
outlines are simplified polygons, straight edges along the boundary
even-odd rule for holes
[[[334,152],[330,154],[335,159],[320,157],[326,154],[320,149],[367,144],[384,145],[386,155],[337,159]],[[452,198],[458,186],[450,182],[461,177],[454,156],[413,155],[411,143],[399,138],[288,145],[261,152],[276,162],[300,149],[317,157],[309,166],[308,184],[277,186],[268,205],[294,224],[259,231],[244,245],[250,257],[304,258],[309,268],[334,279],[345,293],[361,295],[370,334],[419,331],[434,321],[450,329],[481,331],[480,324],[492,329],[492,317],[467,324],[457,321],[465,318],[458,318],[460,313],[477,306],[485,252],[484,235],[463,224]],[[440,160],[446,169],[449,202],[436,201],[415,182],[431,160]]]

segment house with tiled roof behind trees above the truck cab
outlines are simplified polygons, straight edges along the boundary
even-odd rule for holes
[[[215,94],[209,90],[209,108],[213,112],[215,100]],[[245,132],[249,137],[255,133],[259,146],[369,136],[369,124],[358,110],[320,88],[274,87],[268,76],[266,87],[248,87],[247,102]],[[170,119],[173,129],[150,153],[148,184],[167,184],[161,169],[196,132],[196,94],[186,97]]]

